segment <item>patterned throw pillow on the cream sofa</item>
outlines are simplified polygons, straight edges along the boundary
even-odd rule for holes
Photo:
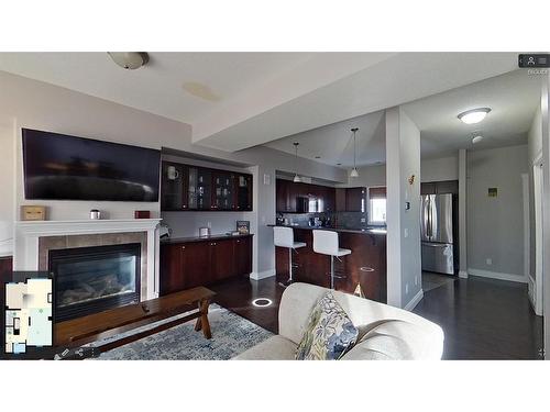
[[[327,292],[309,315],[308,326],[296,352],[298,360],[340,359],[358,339],[359,330]]]

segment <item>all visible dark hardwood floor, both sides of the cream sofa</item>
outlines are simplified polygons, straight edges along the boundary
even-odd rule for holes
[[[430,279],[431,282],[436,279]],[[273,332],[284,288],[275,278],[246,277],[210,287],[215,302]],[[252,301],[273,304],[256,308]],[[446,334],[443,359],[540,359],[542,318],[532,311],[527,286],[479,277],[441,281],[425,292],[415,313],[439,324]]]

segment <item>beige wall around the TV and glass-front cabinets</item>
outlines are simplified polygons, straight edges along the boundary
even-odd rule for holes
[[[8,155],[8,162],[13,162],[14,167],[6,164],[1,166],[2,170],[8,169],[3,180],[15,186],[15,200],[10,198],[11,189],[2,187],[0,222],[11,223],[19,219],[14,211],[20,204],[29,203],[23,193],[21,127],[158,149],[168,147],[186,152],[190,156],[207,156],[212,162],[230,160],[252,167],[255,203],[249,220],[251,230],[255,233],[254,271],[274,271],[273,234],[266,224],[273,223],[275,219],[275,171],[292,172],[295,167],[294,156],[265,147],[228,153],[198,146],[191,143],[191,126],[188,124],[2,71],[0,90],[0,124],[15,124],[15,127],[8,127],[7,132],[3,131],[6,127],[0,131],[2,155],[6,147],[9,149],[14,145],[16,148],[15,159],[13,155]],[[308,159],[300,159],[300,171],[329,181],[346,180],[344,170]],[[271,185],[263,183],[264,175],[271,176]],[[160,202],[41,201],[40,204],[50,207],[52,220],[88,219],[88,212],[92,208],[101,209],[111,219],[132,218],[136,209],[151,210],[153,215],[160,214]],[[208,212],[195,215],[196,224],[206,223],[209,219],[207,215]],[[232,226],[234,220],[235,218],[228,216],[227,226]]]

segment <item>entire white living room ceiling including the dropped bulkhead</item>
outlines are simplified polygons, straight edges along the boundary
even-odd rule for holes
[[[194,143],[235,152],[497,76],[517,65],[515,53],[150,55],[145,67],[123,70],[105,53],[1,53],[0,70],[190,123]],[[184,90],[184,83],[195,94]]]

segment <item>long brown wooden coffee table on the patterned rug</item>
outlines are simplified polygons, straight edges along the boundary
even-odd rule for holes
[[[207,339],[212,337],[208,322],[208,307],[216,296],[210,289],[198,287],[144,302],[111,309],[100,313],[61,322],[54,325],[54,342],[59,348],[73,348],[128,332],[139,326],[172,318],[195,307],[191,313],[176,320],[135,333],[120,339],[98,345],[96,350],[107,352],[114,347],[141,339],[173,326],[196,319],[195,331],[202,331]]]

